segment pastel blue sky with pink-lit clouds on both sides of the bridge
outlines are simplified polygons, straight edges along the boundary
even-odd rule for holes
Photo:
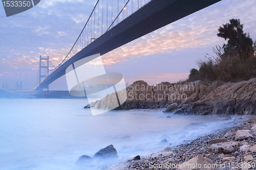
[[[19,14],[6,17],[0,5],[0,88],[37,84],[39,56],[58,65],[84,27],[95,0],[41,0]],[[229,19],[240,19],[244,32],[256,40],[256,0],[223,0],[101,56],[106,72],[119,72],[125,83],[174,83],[187,79],[197,61],[214,55],[212,47],[226,41],[218,28]],[[50,90],[67,90],[65,78]]]

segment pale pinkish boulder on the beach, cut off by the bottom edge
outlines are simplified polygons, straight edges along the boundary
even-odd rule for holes
[[[206,164],[206,165],[205,165]],[[214,170],[215,167],[208,167],[208,164],[213,164],[213,162],[209,158],[201,158],[201,157],[194,157],[189,159],[188,161],[182,163],[179,166],[180,170]],[[206,166],[207,168],[204,168]]]

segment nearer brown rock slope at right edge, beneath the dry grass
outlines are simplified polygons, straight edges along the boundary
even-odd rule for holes
[[[206,91],[200,100],[184,103],[176,112],[201,115],[256,114],[256,79],[226,83],[215,90]]]

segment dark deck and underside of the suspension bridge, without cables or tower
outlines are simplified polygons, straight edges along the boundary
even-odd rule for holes
[[[59,66],[37,88],[45,88],[65,75],[66,68],[75,61],[98,53],[106,54],[119,46],[220,1],[152,0]]]

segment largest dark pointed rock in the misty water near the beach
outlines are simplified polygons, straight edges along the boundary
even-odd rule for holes
[[[93,158],[116,158],[118,157],[117,155],[117,151],[114,148],[113,144],[108,145],[108,147],[103,148],[101,150],[99,150],[94,156]]]

